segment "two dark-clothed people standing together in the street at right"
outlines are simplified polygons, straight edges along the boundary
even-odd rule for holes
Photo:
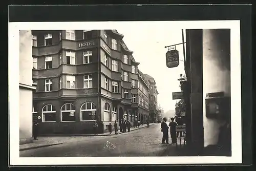
[[[162,144],[169,143],[168,130],[170,127],[170,138],[172,139],[172,144],[177,144],[177,137],[180,134],[182,137],[182,132],[176,132],[176,126],[178,123],[174,121],[174,118],[170,118],[169,125],[166,123],[167,119],[163,118],[163,122],[161,123],[161,132],[163,132]]]

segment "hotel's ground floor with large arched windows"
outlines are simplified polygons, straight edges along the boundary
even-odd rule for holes
[[[33,100],[33,122],[38,122],[38,135],[92,134],[97,122],[98,133],[108,132],[111,123],[149,119],[129,104],[106,98],[90,97],[75,99]]]

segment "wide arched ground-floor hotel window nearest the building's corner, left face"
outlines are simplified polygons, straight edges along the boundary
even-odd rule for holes
[[[96,105],[92,102],[86,102],[81,105],[80,118],[81,121],[95,121],[96,120]]]

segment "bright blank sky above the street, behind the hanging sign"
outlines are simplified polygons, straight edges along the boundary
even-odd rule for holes
[[[164,111],[175,110],[175,103],[172,92],[180,92],[179,81],[180,74],[184,74],[184,62],[176,68],[167,68],[165,46],[179,44],[182,42],[181,29],[172,29],[164,27],[152,27],[138,25],[138,27],[119,28],[117,31],[124,35],[123,40],[129,50],[132,50],[136,61],[140,62],[139,69],[155,78],[158,95],[158,105],[164,108]],[[185,41],[185,30],[184,30]],[[183,60],[182,45],[176,46],[179,51],[179,57]]]

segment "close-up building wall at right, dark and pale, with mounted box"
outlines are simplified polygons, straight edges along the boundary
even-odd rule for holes
[[[230,29],[186,30],[186,42],[187,145],[230,156]]]

